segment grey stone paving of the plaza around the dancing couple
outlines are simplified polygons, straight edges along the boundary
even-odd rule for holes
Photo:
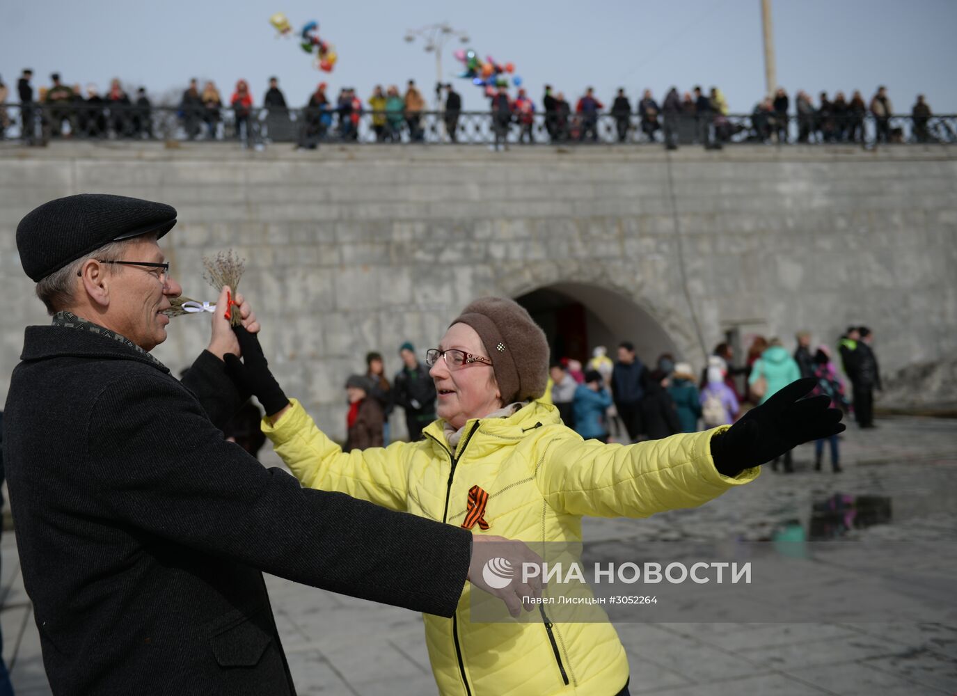
[[[893,500],[890,525],[861,534],[957,542],[957,421],[893,417],[842,440],[844,473],[815,473],[803,446],[791,476],[753,484],[696,510],[648,520],[590,520],[603,544],[736,536],[767,538],[789,519],[805,524],[811,501],[835,492]],[[435,686],[419,617],[269,578],[273,608],[300,694],[428,696]],[[30,601],[11,533],[3,539],[4,658],[21,696],[49,694]],[[957,693],[957,624],[623,623],[632,692],[701,694]],[[529,695],[534,696],[534,695]]]

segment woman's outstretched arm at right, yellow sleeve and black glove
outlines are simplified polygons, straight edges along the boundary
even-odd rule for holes
[[[549,505],[571,514],[647,517],[701,505],[753,481],[761,464],[796,445],[845,429],[829,397],[802,398],[814,384],[797,380],[733,426],[703,433],[634,445],[583,442],[568,431],[543,438],[536,481]]]

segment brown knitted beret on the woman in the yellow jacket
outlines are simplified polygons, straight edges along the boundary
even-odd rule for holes
[[[505,298],[480,298],[465,307],[452,324],[472,326],[479,334],[492,359],[502,403],[536,399],[545,393],[548,341],[521,304]]]

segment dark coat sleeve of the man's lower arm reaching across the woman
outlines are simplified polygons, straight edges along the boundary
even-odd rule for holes
[[[333,592],[455,611],[471,557],[465,529],[300,488],[226,442],[157,370],[104,384],[86,417],[83,476],[114,519]]]

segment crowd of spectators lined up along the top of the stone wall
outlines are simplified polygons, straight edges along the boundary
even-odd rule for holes
[[[102,93],[96,84],[85,88],[70,86],[60,75],[50,76],[51,85],[40,87],[34,94],[33,71],[25,69],[17,80],[21,137],[33,137],[36,117],[52,137],[78,134],[85,138],[152,138],[153,101],[144,87],[129,94],[120,79],[111,79]],[[457,142],[465,125],[461,95],[452,83],[436,85],[436,93],[443,93],[439,120],[444,136]],[[175,114],[185,137],[189,140],[221,140],[235,137],[249,140],[253,129],[262,130],[267,137],[272,132],[282,137],[290,129],[290,108],[278,86],[278,78],[269,79],[261,101],[256,103],[247,80],[238,79],[228,99],[212,80],[202,85],[190,79],[189,86],[179,101],[164,104],[175,107]],[[0,103],[11,101],[9,88],[0,79]],[[262,119],[257,106],[263,109]],[[404,90],[398,85],[376,85],[365,99],[358,90],[342,87],[337,95],[320,82],[301,107],[301,120],[295,128],[299,146],[314,147],[320,142],[360,140],[360,123],[364,115],[377,142],[422,142],[426,138],[424,117],[428,104],[422,92],[410,79]],[[537,115],[538,118],[537,118]],[[656,99],[650,89],[634,101],[624,88],[606,102],[595,95],[592,88],[576,100],[568,101],[565,94],[545,85],[540,105],[518,88],[514,95],[505,87],[495,91],[488,102],[487,120],[497,145],[504,144],[509,133],[518,133],[519,143],[538,142],[535,128],[551,143],[620,142],[631,140],[663,142],[675,147],[679,137],[683,142],[698,142],[706,147],[720,147],[746,131],[746,138],[761,143],[861,143],[864,139],[865,119],[875,123],[875,137],[879,143],[903,142],[905,134],[892,123],[892,103],[887,91],[880,86],[874,96],[865,101],[859,90],[850,99],[838,91],[833,97],[820,92],[816,103],[803,90],[794,94],[792,101],[784,88],[759,101],[748,119],[737,119],[730,112],[727,100],[718,87],[705,91],[701,86],[683,94],[672,87]],[[935,136],[929,128],[932,112],[918,95],[911,108],[910,138],[926,143]],[[471,120],[471,116],[468,117]],[[796,123],[796,133],[790,123]],[[0,134],[13,123],[6,109],[0,108]],[[227,123],[229,128],[226,127]],[[437,123],[437,122],[436,122]],[[469,122],[478,127],[478,122]],[[604,124],[604,131],[602,130]],[[258,130],[256,131],[258,132]],[[436,131],[437,132],[437,131]]]

